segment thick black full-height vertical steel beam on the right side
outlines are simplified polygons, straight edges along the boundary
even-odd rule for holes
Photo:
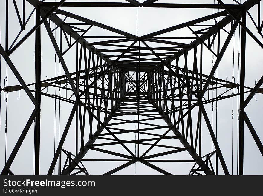
[[[246,11],[242,12],[242,23],[246,25]],[[240,59],[240,101],[239,105],[244,103],[244,86],[245,86],[245,57],[246,57],[246,30],[241,29],[241,59]],[[244,117],[241,112],[244,107],[239,108],[239,175],[244,172]]]

